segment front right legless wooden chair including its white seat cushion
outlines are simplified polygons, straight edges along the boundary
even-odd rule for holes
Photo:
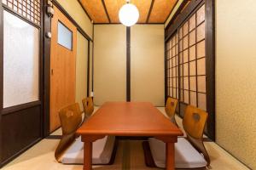
[[[208,114],[194,106],[187,106],[183,117],[186,138],[178,138],[175,144],[175,167],[206,169],[210,158],[203,144],[203,132]],[[146,146],[147,147],[147,146]],[[166,167],[166,144],[158,139],[148,139],[150,156],[144,150],[146,164],[149,167]],[[145,147],[144,147],[145,149]],[[151,159],[151,160],[150,160]]]

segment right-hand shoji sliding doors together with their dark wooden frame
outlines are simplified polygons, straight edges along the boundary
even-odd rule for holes
[[[209,118],[205,132],[214,139],[211,17],[206,20],[206,3],[202,0],[192,1],[183,10],[187,12],[179,14],[173,25],[166,29],[166,96],[179,100],[177,113],[181,117],[187,105],[207,111]]]

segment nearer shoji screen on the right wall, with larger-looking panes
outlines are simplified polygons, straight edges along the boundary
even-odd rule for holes
[[[180,27],[178,38],[181,114],[185,105],[206,111],[205,5]]]

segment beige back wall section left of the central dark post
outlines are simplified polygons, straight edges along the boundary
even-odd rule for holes
[[[126,99],[126,28],[96,25],[94,37],[94,101]]]

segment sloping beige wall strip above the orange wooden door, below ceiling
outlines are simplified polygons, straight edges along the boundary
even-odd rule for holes
[[[77,0],[57,0],[61,7],[67,10],[67,13],[81,26],[81,28],[92,37],[92,24],[88,16],[84,13],[84,9]]]

